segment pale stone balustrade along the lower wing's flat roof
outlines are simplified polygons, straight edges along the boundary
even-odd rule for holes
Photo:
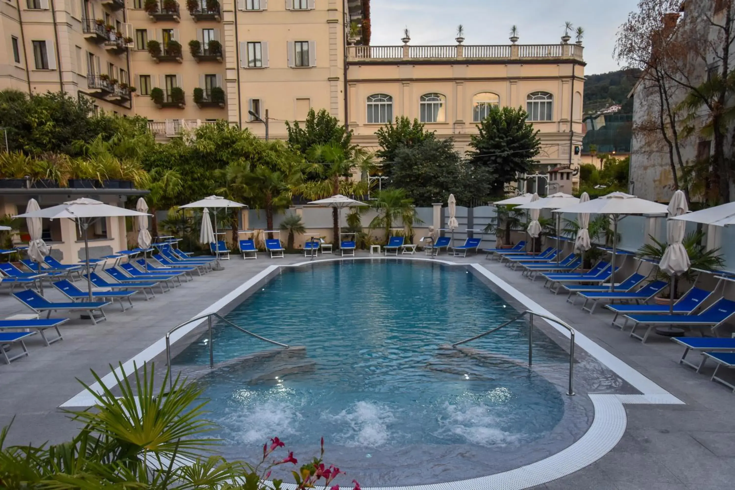
[[[348,46],[347,60],[354,64],[437,61],[576,60],[584,61],[578,44],[509,44],[495,46]]]

